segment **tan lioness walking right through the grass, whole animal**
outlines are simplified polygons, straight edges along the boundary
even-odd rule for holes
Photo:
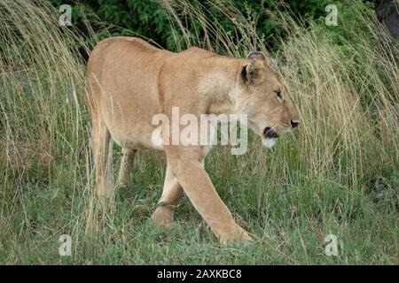
[[[249,126],[271,147],[279,134],[298,126],[299,118],[265,55],[224,57],[195,47],[173,53],[138,38],[113,37],[90,54],[87,92],[98,195],[113,194],[113,141],[123,152],[120,185],[129,181],[137,149],[162,149],[168,163],[160,197],[165,205],[153,212],[153,220],[172,226],[184,192],[220,241],[251,239],[204,170],[208,147],[153,144],[152,118],[170,115],[176,106],[182,114],[198,116],[245,113]]]

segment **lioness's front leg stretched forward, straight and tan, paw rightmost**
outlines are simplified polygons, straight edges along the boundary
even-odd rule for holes
[[[223,243],[250,240],[248,233],[234,221],[230,210],[217,195],[196,149],[169,147],[166,152],[170,169],[185,194],[219,240]]]

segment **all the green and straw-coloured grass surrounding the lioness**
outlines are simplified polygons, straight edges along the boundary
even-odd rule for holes
[[[85,65],[66,42],[91,47],[59,28],[48,4],[2,1],[0,264],[398,264],[399,52],[372,15],[353,11],[356,30],[279,17],[288,36],[276,53],[286,63],[279,72],[301,129],[272,150],[251,134],[246,155],[216,147],[207,157],[218,193],[254,235],[250,245],[223,247],[187,198],[173,230],[151,222],[161,153],[140,151],[133,183],[112,203],[98,201]],[[168,12],[180,19],[176,8]],[[247,36],[223,34],[215,23],[207,26],[213,48],[226,39],[231,50],[219,52],[264,50],[262,41],[248,42],[258,38],[251,23],[235,18]],[[117,146],[114,156],[117,165]],[[59,256],[61,234],[72,237],[71,256]],[[328,234],[338,237],[339,256],[325,256]]]

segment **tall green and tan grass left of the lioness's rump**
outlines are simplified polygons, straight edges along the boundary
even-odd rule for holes
[[[68,217],[75,198],[90,195],[85,67],[74,50],[87,46],[45,1],[3,0],[0,15],[0,242],[12,263],[24,252],[19,241],[37,241],[41,210]],[[66,207],[27,202],[69,195]],[[82,228],[48,225],[49,234]]]

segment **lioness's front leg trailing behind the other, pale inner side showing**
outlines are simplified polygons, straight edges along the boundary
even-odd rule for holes
[[[173,218],[176,206],[183,195],[183,188],[177,181],[176,176],[168,166],[165,173],[165,182],[163,184],[162,196],[160,197],[160,206],[153,211],[153,221],[159,226],[170,228],[173,226]]]

